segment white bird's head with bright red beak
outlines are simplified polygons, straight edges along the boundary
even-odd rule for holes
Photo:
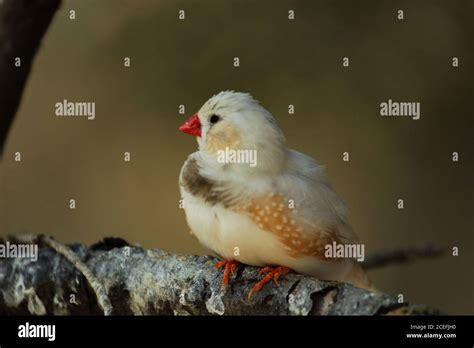
[[[179,129],[196,136],[201,155],[217,167],[268,173],[281,170],[286,162],[281,130],[273,116],[250,94],[220,92]],[[253,155],[256,163],[242,163],[242,159],[252,160]],[[234,159],[241,163],[233,162]]]

